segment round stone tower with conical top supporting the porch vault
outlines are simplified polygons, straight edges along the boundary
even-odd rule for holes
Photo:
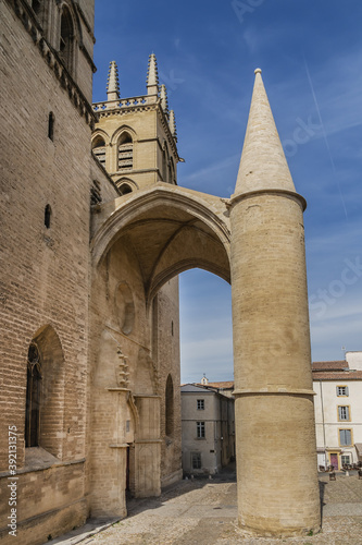
[[[260,69],[230,203],[239,524],[264,536],[314,532],[321,520],[305,202]]]

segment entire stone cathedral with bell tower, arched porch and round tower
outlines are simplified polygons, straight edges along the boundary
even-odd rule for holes
[[[153,55],[143,94],[122,97],[111,62],[91,105],[93,1],[3,0],[0,15],[0,540],[125,517],[128,496],[180,479],[177,275],[191,267],[232,282],[239,524],[315,531],[305,203],[261,71],[222,199],[177,185]],[[288,467],[258,465],[290,444]]]

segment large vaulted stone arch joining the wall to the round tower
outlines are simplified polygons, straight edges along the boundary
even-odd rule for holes
[[[122,237],[130,240],[143,274],[147,304],[179,272],[199,267],[230,281],[229,226],[225,204],[158,184],[124,199],[99,226],[91,250],[97,266]]]

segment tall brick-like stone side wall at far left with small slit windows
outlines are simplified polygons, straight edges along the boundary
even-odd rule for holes
[[[26,19],[25,8],[20,16],[11,1],[0,5],[1,102],[7,110],[0,129],[0,471],[5,486],[8,429],[15,426],[18,535],[22,543],[30,544],[83,523],[87,513],[83,461],[91,158],[90,118],[70,98],[73,84],[67,88],[61,84],[49,57],[41,55],[34,35],[28,34],[24,21],[29,21],[29,28],[32,20]],[[86,86],[90,66],[82,77]],[[49,227],[45,225],[47,205]],[[41,460],[36,469],[29,465],[27,451],[32,449],[24,441],[32,340],[41,354],[40,447],[54,457],[51,469]],[[7,534],[5,522],[2,519],[1,532]]]

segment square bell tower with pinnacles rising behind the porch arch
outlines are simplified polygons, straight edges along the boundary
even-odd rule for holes
[[[177,184],[175,114],[168,110],[165,85],[159,85],[155,56],[149,57],[147,94],[122,98],[112,61],[107,95],[104,102],[93,104],[92,152],[121,194],[158,182]]]

